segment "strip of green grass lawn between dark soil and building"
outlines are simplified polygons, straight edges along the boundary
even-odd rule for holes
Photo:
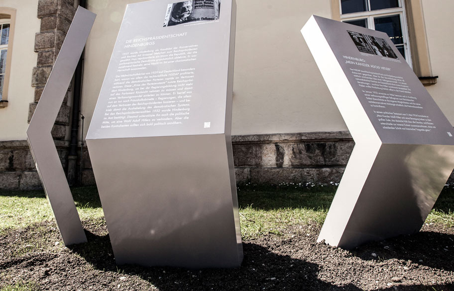
[[[281,225],[323,224],[336,193],[335,186],[280,185],[278,189],[246,185],[238,188],[241,235],[250,239],[279,234]],[[81,220],[104,217],[96,187],[72,189]],[[0,233],[52,220],[44,191],[0,191]],[[426,223],[454,226],[454,188],[445,187]]]

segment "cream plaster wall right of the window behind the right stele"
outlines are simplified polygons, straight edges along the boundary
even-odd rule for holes
[[[454,1],[422,0],[432,74],[437,83],[426,87],[454,125]]]

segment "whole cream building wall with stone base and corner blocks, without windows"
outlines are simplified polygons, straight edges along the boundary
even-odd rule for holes
[[[81,108],[84,138],[126,4],[139,1],[88,0],[88,9],[98,16],[86,46]],[[432,72],[439,75],[438,83],[426,88],[454,123],[454,40],[447,33],[454,22],[450,17],[454,2],[439,0],[434,5],[430,0],[409,1],[423,5]],[[47,44],[42,40],[48,38],[43,36],[65,32],[73,3],[0,0],[0,7],[17,9],[9,104],[0,109],[0,122],[11,125],[0,129],[0,189],[40,185],[25,131],[29,112],[33,112],[54,61],[55,55],[49,52],[58,52],[61,44]],[[337,18],[339,15],[332,15],[333,3],[237,0],[232,142],[238,182],[339,182],[354,142],[300,33],[311,14]],[[54,18],[59,20],[54,23]],[[71,92],[68,96],[62,106],[65,114],[60,114],[64,118],[53,130],[64,167]],[[94,184],[86,147],[80,158],[82,183]]]

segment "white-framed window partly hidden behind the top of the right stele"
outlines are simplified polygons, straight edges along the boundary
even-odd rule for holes
[[[388,34],[412,67],[403,0],[340,0],[340,20]]]

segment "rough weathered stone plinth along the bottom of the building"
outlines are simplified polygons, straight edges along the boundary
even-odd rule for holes
[[[69,142],[55,144],[66,168]],[[238,185],[339,183],[354,146],[348,132],[232,136],[232,144]],[[96,185],[86,146],[82,158],[79,147],[77,171],[78,184]],[[26,141],[0,142],[0,189],[40,187]]]

